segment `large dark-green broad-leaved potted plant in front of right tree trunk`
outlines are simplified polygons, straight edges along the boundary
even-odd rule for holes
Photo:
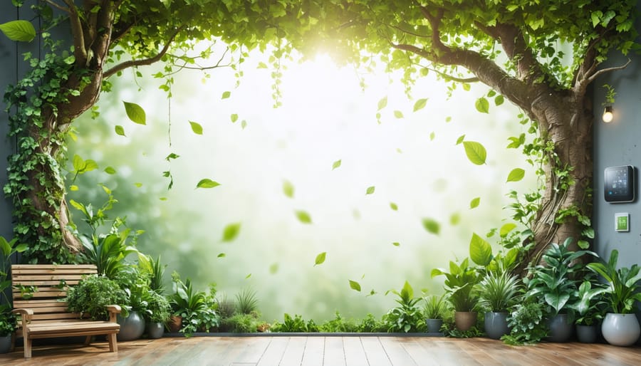
[[[541,298],[548,305],[549,339],[553,342],[566,342],[573,332],[570,304],[575,302],[577,292],[573,276],[583,268],[579,258],[585,254],[596,256],[591,251],[571,251],[571,243],[568,238],[562,245],[550,244],[543,253],[544,263],[533,268],[531,278],[526,280],[527,296]]]

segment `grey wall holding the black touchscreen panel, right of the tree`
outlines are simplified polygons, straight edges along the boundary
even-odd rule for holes
[[[637,4],[637,9],[641,6]],[[637,21],[637,29],[641,22]],[[632,203],[610,204],[603,197],[605,167],[632,165],[641,168],[641,56],[613,55],[607,66],[630,63],[624,70],[608,73],[594,83],[594,248],[606,260],[610,251],[619,251],[619,266],[641,263],[641,193],[639,174],[636,174],[636,200]],[[603,84],[613,85],[617,93],[613,105],[614,120],[604,123],[602,103],[605,100]],[[615,214],[630,214],[630,232],[615,231]]]

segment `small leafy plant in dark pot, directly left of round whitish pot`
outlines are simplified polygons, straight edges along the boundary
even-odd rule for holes
[[[598,335],[597,323],[603,319],[605,313],[605,287],[595,284],[593,288],[592,284],[593,281],[584,280],[578,288],[576,302],[570,305],[577,315],[576,337],[581,343],[595,343]]]

